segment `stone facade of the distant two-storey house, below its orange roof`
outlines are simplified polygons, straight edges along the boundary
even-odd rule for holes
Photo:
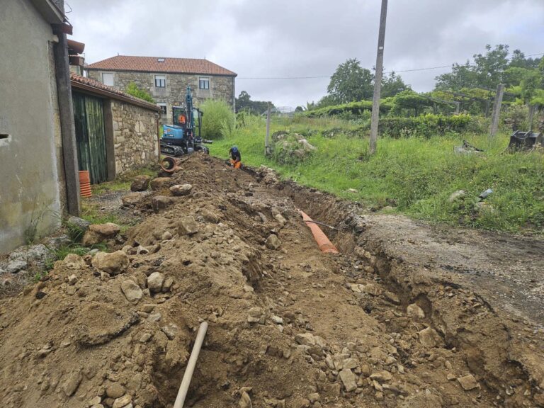
[[[234,77],[222,77],[218,75],[185,75],[185,74],[164,74],[161,72],[113,72],[96,71],[89,69],[89,78],[102,82],[104,72],[114,74],[113,81],[115,88],[125,91],[130,82],[134,82],[138,88],[147,91],[157,103],[166,103],[167,113],[162,118],[162,123],[171,123],[172,106],[179,106],[185,103],[187,86],[193,91],[193,102],[196,107],[200,106],[206,99],[222,99],[229,103],[234,110]],[[155,87],[155,75],[166,77],[166,87]],[[198,79],[206,77],[210,79],[210,89],[198,89]]]

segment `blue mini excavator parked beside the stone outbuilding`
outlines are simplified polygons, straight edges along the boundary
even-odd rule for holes
[[[187,86],[185,106],[172,107],[173,125],[163,125],[161,153],[170,157],[181,157],[199,150],[209,153],[205,140],[200,136],[203,112],[193,106],[191,87]]]

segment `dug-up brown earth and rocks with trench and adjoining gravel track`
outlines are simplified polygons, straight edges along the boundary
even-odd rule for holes
[[[141,220],[112,247],[128,266],[60,261],[0,302],[4,407],[171,407],[203,320],[188,406],[544,407],[542,240],[363,215],[200,154],[182,167],[112,205]],[[338,227],[340,254],[297,208]]]

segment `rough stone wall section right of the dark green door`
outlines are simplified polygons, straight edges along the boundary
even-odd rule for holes
[[[140,106],[111,100],[115,176],[159,161],[157,115]]]

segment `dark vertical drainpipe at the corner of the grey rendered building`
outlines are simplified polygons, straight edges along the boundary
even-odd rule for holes
[[[68,63],[68,43],[66,34],[53,29],[59,38],[54,46],[55,77],[60,112],[60,132],[62,135],[62,162],[66,181],[67,210],[70,215],[79,216],[79,173],[77,163],[76,128],[74,126],[74,106],[72,105],[72,86]]]

